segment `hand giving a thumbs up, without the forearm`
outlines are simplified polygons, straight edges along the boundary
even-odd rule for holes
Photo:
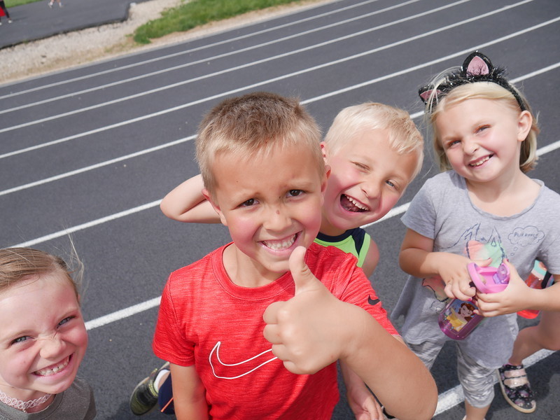
[[[311,273],[304,256],[302,246],[290,255],[295,296],[270,304],[262,316],[272,353],[296,374],[315,373],[341,358],[349,330],[345,314],[358,309],[333,296]]]

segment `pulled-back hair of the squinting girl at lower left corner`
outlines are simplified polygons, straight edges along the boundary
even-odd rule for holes
[[[33,276],[60,272],[73,287],[78,297],[78,286],[81,282],[83,265],[79,264],[74,272],[66,262],[56,255],[33,248],[0,249],[0,291]],[[71,274],[74,273],[74,278]]]

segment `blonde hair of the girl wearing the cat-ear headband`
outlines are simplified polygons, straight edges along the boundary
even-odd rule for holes
[[[440,83],[443,83],[444,80],[444,78],[441,78],[433,83],[434,92],[437,90],[437,86]],[[521,154],[519,155],[519,168],[522,172],[526,173],[533,169],[537,164],[537,136],[540,130],[537,119],[535,118],[533,111],[531,111],[531,106],[529,106],[525,97],[514,86],[511,87],[519,95],[519,98],[521,98],[526,111],[531,113],[531,116],[533,116],[531,130],[523,143],[521,143]],[[489,99],[492,101],[501,101],[504,106],[512,111],[518,113],[521,112],[519,102],[512,92],[497,83],[492,82],[466,83],[465,85],[454,87],[442,99],[439,99],[439,101],[435,98],[435,95],[430,97],[430,99],[426,102],[426,118],[433,127],[433,148],[442,171],[448,171],[451,169],[451,165],[449,164],[449,160],[447,160],[447,155],[445,155],[441,141],[438,139],[437,130],[435,128],[435,120],[437,119],[437,116],[446,109],[446,107],[460,104],[467,99]]]

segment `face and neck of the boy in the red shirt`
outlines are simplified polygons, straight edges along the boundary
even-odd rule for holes
[[[226,271],[241,286],[274,281],[288,271],[293,249],[307,248],[317,235],[326,175],[310,151],[296,146],[269,155],[226,153],[213,171],[214,199],[204,193],[235,245],[226,248]]]

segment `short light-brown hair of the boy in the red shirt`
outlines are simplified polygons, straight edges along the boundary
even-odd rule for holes
[[[203,118],[196,139],[196,157],[211,195],[216,191],[213,165],[223,153],[250,160],[255,153],[272,154],[286,146],[312,153],[320,176],[325,174],[321,132],[295,98],[255,92],[226,99]]]

